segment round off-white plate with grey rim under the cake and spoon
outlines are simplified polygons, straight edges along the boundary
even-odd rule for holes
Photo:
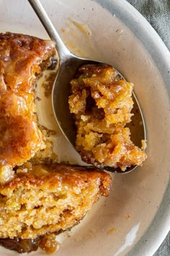
[[[112,64],[135,83],[148,138],[148,160],[143,167],[128,175],[113,175],[109,197],[59,238],[62,244],[56,255],[153,255],[170,223],[169,51],[151,25],[124,0],[43,0],[42,4],[68,47],[81,56]],[[73,21],[86,25],[89,35]],[[48,38],[24,0],[0,0],[0,26],[1,32]],[[48,124],[48,117],[43,118]],[[63,137],[58,135],[57,140],[63,145],[60,157],[76,161],[77,155]],[[109,232],[112,228],[115,231]],[[16,255],[2,247],[0,252]],[[42,255],[42,251],[32,255]]]

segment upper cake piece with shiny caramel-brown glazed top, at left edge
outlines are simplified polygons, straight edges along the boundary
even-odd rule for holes
[[[38,128],[34,85],[50,64],[55,43],[29,35],[0,33],[0,182],[45,148]]]

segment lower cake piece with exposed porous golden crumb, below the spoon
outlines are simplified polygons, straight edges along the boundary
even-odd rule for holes
[[[1,238],[35,239],[70,229],[84,218],[112,179],[97,168],[37,164],[22,166],[0,186]]]

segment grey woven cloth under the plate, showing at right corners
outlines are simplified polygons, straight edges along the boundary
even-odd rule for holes
[[[170,0],[127,1],[148,20],[170,51]],[[170,232],[154,256],[170,256]]]

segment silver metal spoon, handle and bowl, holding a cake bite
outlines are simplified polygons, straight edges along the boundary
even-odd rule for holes
[[[76,130],[73,123],[72,116],[69,111],[68,106],[68,96],[71,94],[71,86],[70,82],[73,79],[74,75],[76,74],[76,70],[84,64],[103,64],[100,61],[95,61],[92,59],[83,59],[78,56],[71,54],[68,51],[68,48],[64,45],[63,41],[61,40],[60,36],[58,35],[55,27],[53,26],[48,14],[45,12],[45,9],[42,7],[42,4],[39,0],[28,0],[35,10],[37,17],[39,17],[40,22],[45,27],[48,35],[50,36],[51,40],[54,40],[56,43],[56,49],[58,51],[59,56],[59,68],[58,74],[55,79],[55,83],[53,85],[53,92],[52,92],[52,101],[53,101],[53,112],[55,114],[55,119],[58,122],[58,126],[61,128],[63,135],[66,137],[68,142],[75,147],[76,141]],[[122,79],[122,74],[117,72]],[[133,93],[133,101],[134,107],[133,112],[134,116],[132,119],[131,124],[129,124],[131,138],[135,145],[140,147],[140,141],[146,140],[146,127],[143,119],[143,114],[140,109],[138,100]],[[127,168],[126,171],[121,171],[120,168],[111,168],[111,167],[104,167],[107,171],[117,172],[121,174],[128,173],[133,171],[137,166],[131,166]]]

